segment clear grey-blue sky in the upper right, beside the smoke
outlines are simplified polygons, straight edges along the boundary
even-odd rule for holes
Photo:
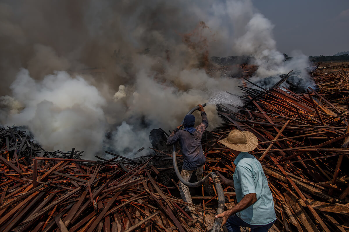
[[[307,56],[349,51],[348,0],[252,0],[275,25],[277,49],[289,54],[301,50]]]

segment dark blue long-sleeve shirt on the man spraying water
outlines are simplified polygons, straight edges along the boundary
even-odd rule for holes
[[[173,145],[179,141],[181,151],[183,154],[183,166],[182,169],[185,170],[195,170],[202,166],[206,157],[203,154],[201,146],[201,137],[203,131],[208,126],[207,116],[205,111],[201,111],[202,123],[195,127],[196,131],[190,134],[188,131],[174,129],[169,138],[167,139],[167,145]]]

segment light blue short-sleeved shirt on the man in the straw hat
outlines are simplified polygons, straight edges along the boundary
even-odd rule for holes
[[[236,199],[238,202],[246,194],[256,193],[257,201],[237,214],[250,225],[266,225],[276,220],[273,195],[260,162],[248,152],[240,152],[236,157],[233,175]]]

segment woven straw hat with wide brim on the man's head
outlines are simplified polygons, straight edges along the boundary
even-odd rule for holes
[[[235,151],[253,151],[258,145],[258,139],[253,133],[241,130],[231,130],[227,138],[218,142]]]

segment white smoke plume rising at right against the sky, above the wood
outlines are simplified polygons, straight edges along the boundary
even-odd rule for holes
[[[250,20],[235,40],[235,49],[240,55],[251,55],[252,63],[258,66],[252,81],[258,81],[268,76],[275,77],[275,82],[263,86],[270,87],[280,80],[280,74],[294,70],[296,76],[303,80],[303,88],[313,86],[314,82],[306,70],[310,66],[308,57],[300,51],[293,51],[290,54],[292,59],[285,61],[284,55],[276,49],[272,23],[260,13],[250,11],[246,14],[250,15]],[[283,85],[287,86],[286,83]]]

